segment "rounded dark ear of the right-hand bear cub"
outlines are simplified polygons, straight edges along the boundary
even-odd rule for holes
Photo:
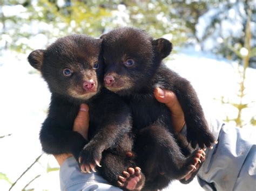
[[[172,43],[164,38],[152,41],[153,49],[161,59],[164,59],[172,51]]]

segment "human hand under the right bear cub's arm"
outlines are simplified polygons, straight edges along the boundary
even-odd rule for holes
[[[156,97],[157,101],[165,103],[170,109],[173,128],[176,132],[180,132],[185,124],[185,118],[176,95],[173,93],[173,91],[157,87],[154,90],[154,96]]]

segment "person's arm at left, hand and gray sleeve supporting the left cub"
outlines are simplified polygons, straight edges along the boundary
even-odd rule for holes
[[[75,119],[73,131],[79,132],[87,139],[89,129],[89,108],[86,104],[80,106]],[[121,190],[111,186],[98,173],[82,173],[75,158],[71,154],[55,155],[60,166],[59,180],[61,190]]]

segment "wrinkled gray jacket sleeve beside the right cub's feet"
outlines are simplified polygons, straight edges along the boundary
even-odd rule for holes
[[[219,121],[211,121],[210,127],[218,144],[207,149],[198,172],[200,186],[205,190],[255,190],[255,128],[238,129]]]

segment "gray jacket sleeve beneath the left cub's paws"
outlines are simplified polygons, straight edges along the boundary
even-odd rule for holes
[[[113,190],[121,189],[111,186],[98,173],[81,173],[75,158],[66,159],[59,171],[60,189],[74,190]]]

